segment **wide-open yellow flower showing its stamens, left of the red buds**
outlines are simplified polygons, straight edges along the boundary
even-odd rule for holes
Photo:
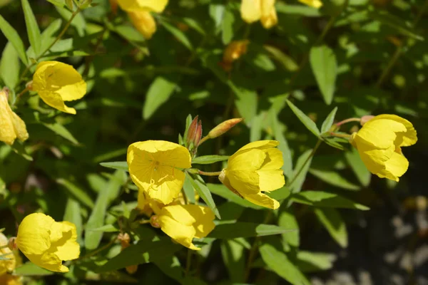
[[[168,204],[180,193],[184,172],[191,167],[187,148],[164,140],[135,142],[128,147],[129,174],[148,199]],[[140,190],[140,191],[141,191]]]

